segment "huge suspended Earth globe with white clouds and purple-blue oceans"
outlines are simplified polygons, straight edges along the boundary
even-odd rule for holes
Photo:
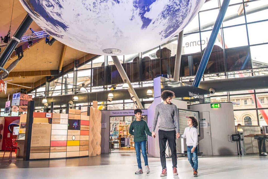
[[[20,0],[52,37],[77,50],[125,55],[178,34],[205,0]]]

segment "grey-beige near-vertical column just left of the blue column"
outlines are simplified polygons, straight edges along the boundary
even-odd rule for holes
[[[174,78],[173,78],[173,80],[175,81],[179,81],[180,78],[182,49],[183,49],[183,30],[178,35],[178,45],[177,45],[177,53],[174,67]]]

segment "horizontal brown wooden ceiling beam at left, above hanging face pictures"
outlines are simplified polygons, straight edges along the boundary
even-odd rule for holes
[[[44,71],[15,71],[10,72],[8,75],[8,78],[16,78],[16,77],[36,77],[36,76],[51,76],[50,70],[44,70]]]

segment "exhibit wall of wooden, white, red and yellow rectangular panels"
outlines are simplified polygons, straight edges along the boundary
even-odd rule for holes
[[[78,109],[69,109],[69,114],[34,112],[30,160],[89,156],[89,130],[90,116]]]

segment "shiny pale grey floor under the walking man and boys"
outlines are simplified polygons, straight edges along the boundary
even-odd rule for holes
[[[160,177],[160,159],[149,157],[148,160],[151,173],[135,175],[137,164],[133,153],[29,162],[8,160],[7,155],[0,159],[0,178],[194,178],[187,158],[178,159],[178,176],[173,176],[171,159],[167,159],[167,177]],[[198,178],[268,177],[268,157],[265,156],[200,157],[198,160]]]

